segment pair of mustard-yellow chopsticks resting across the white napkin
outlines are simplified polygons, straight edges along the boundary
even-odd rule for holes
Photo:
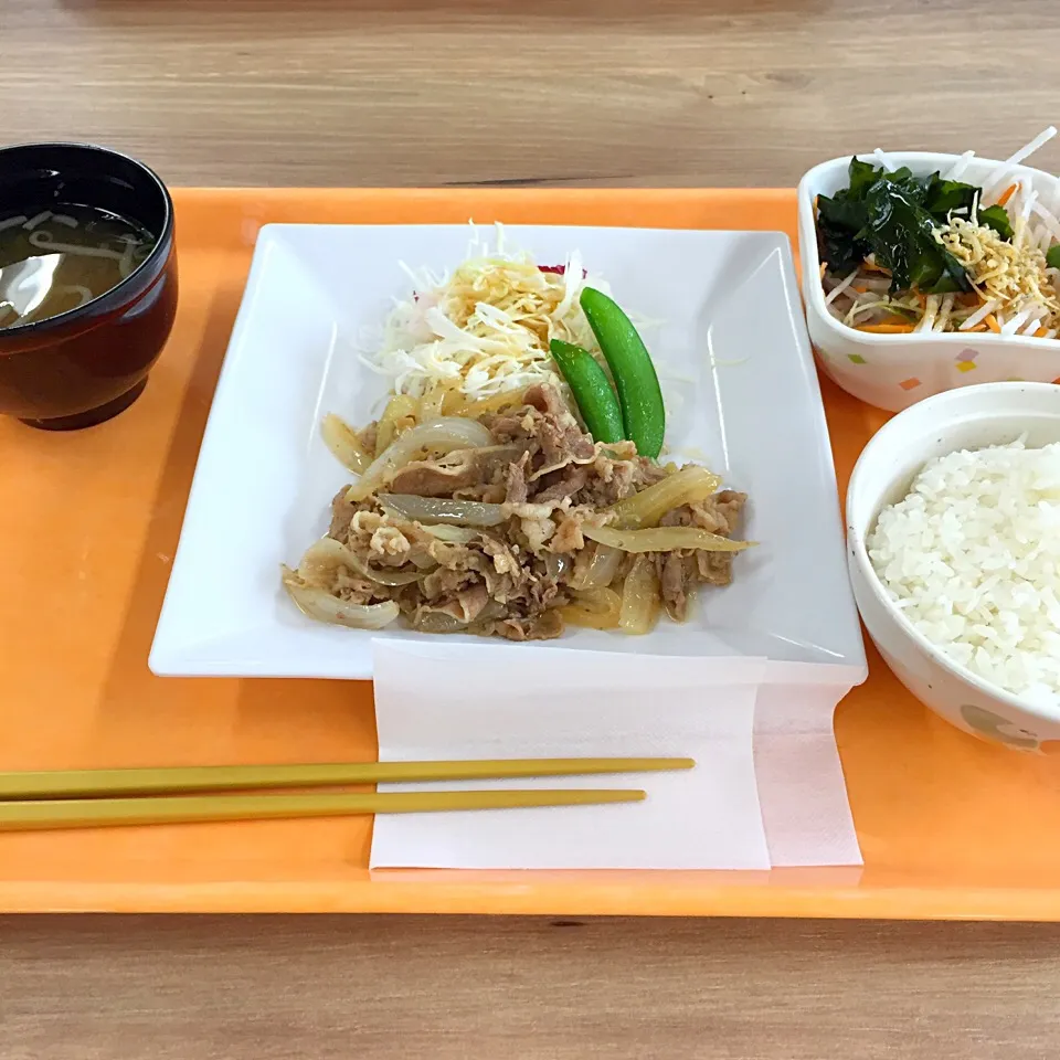
[[[645,798],[644,791],[225,793],[348,784],[658,773],[689,770],[693,765],[691,759],[510,759],[0,773],[0,831],[635,803]]]

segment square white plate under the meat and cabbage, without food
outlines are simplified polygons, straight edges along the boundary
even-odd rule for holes
[[[646,338],[670,403],[668,444],[750,494],[745,529],[762,542],[738,560],[732,586],[699,595],[686,624],[661,622],[645,637],[577,629],[524,649],[766,657],[838,664],[847,687],[862,680],[831,453],[786,236],[511,226],[506,239],[542,263],[580,250],[619,303],[661,321]],[[262,230],[151,650],[156,672],[371,676],[373,635],[304,617],[280,587],[279,564],[325,532],[330,499],[349,480],[320,439],[321,417],[336,411],[364,423],[383,395],[354,346],[393,297],[407,297],[399,262],[443,272],[467,244],[466,226]],[[396,628],[377,636],[423,639]]]

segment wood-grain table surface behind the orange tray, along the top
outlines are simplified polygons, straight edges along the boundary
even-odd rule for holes
[[[1053,0],[0,0],[0,136],[186,184],[792,186],[1006,156],[1058,53]]]

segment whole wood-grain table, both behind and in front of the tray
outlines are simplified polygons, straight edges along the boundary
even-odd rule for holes
[[[1058,117],[1052,0],[921,11],[0,0],[2,136],[172,183],[789,186]],[[1015,924],[0,918],[0,1058],[1021,1060],[1057,1040],[1058,951]]]

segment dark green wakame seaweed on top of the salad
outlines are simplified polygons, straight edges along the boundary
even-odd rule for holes
[[[817,198],[822,259],[835,273],[848,273],[869,255],[891,271],[891,290],[916,287],[926,294],[971,290],[964,266],[935,239],[934,230],[954,210],[971,213],[981,189],[940,173],[914,177],[850,159],[850,183],[833,198]],[[978,211],[981,224],[1001,239],[1013,235],[1004,206]]]

